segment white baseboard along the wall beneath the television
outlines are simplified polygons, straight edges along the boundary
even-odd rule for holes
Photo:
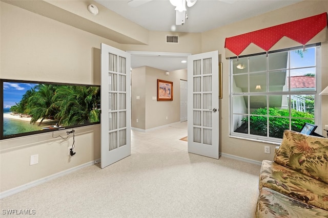
[[[7,191],[4,191],[4,192],[1,192],[0,193],[0,199],[3,199],[5,197],[8,197],[8,196],[10,196],[12,194],[18,193],[20,191],[24,191],[26,189],[32,188],[34,186],[37,186],[37,185],[46,183],[46,182],[48,182],[50,180],[54,180],[56,178],[63,177],[65,175],[68,175],[69,173],[72,173],[74,171],[77,171],[77,170],[82,169],[82,168],[85,168],[85,167],[92,166],[92,165],[97,164],[97,163],[100,163],[100,159],[97,159],[97,160],[94,160],[94,161],[90,161],[88,163],[81,164],[79,166],[75,166],[75,167],[72,167],[70,169],[66,169],[66,170],[61,171],[61,172],[57,172],[57,173],[55,173],[53,175],[50,175],[48,177],[44,177],[42,179],[35,180],[33,182],[30,182],[30,183],[27,183],[27,184],[18,186],[16,188],[9,189]]]

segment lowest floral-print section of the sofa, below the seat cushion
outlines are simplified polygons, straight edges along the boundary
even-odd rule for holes
[[[328,217],[328,211],[297,201],[284,194],[263,187],[257,202],[256,217],[304,218]]]

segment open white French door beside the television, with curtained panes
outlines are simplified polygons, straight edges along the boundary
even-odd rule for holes
[[[101,43],[101,168],[131,155],[131,55]]]

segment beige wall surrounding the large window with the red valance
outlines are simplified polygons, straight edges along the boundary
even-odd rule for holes
[[[327,1],[303,1],[282,9],[265,13],[250,19],[239,21],[235,24],[224,26],[215,30],[202,33],[202,52],[219,50],[220,62],[223,66],[223,98],[220,99],[220,152],[235,155],[252,160],[262,161],[263,159],[272,160],[273,150],[276,145],[260,142],[242,140],[229,137],[229,60],[225,57],[224,40],[231,37],[258,29],[263,29],[289,21],[321,14],[328,11]],[[300,33],[301,34],[301,33]],[[324,89],[328,85],[328,44],[325,42],[321,46],[321,85]],[[328,96],[322,96],[322,127],[328,124],[328,115],[325,113],[328,106]],[[322,135],[326,136],[325,133]],[[271,154],[264,154],[264,146],[271,146]]]

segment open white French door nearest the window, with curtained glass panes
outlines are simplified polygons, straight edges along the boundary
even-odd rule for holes
[[[188,56],[188,152],[219,158],[218,51]]]

